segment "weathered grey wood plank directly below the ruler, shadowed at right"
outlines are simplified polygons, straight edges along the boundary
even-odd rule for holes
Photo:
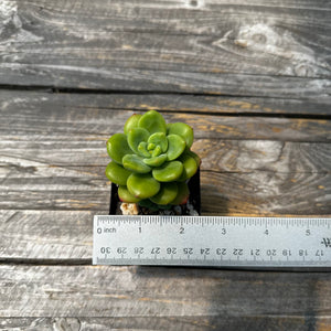
[[[328,273],[1,265],[0,284],[2,318],[289,316],[314,328],[331,313]]]

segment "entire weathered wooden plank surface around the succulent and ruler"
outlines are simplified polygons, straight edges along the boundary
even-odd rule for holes
[[[194,128],[203,214],[331,216],[330,22],[327,0],[1,0],[0,330],[330,330],[328,271],[92,266],[105,143],[147,109]]]

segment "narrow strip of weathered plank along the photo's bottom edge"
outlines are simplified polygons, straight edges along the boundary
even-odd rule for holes
[[[212,320],[212,321],[210,321]],[[164,330],[164,331],[210,331],[210,330],[328,330],[330,318],[322,316],[256,316],[231,317],[226,313],[206,318],[195,317],[119,317],[119,318],[0,318],[0,330]]]

